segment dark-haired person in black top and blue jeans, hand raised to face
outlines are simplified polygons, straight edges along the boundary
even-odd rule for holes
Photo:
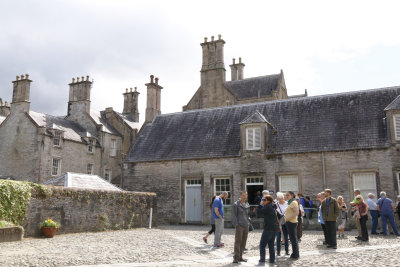
[[[268,245],[269,262],[275,262],[275,237],[279,231],[278,219],[275,209],[272,206],[274,199],[267,195],[262,199],[263,206],[260,209],[261,216],[264,217],[264,230],[260,240],[260,263],[265,262],[265,248]]]

